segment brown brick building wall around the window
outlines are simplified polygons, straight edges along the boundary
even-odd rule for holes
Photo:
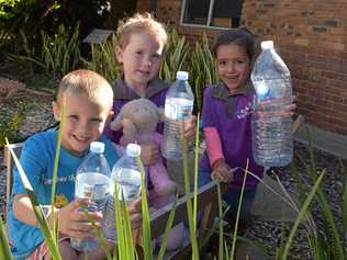
[[[138,7],[146,1],[138,0]],[[180,13],[181,0],[157,0],[157,19],[188,38],[217,35],[217,30],[180,26]],[[306,122],[347,135],[347,1],[245,0],[242,23],[257,39],[275,41]]]

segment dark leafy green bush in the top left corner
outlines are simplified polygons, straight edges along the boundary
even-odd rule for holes
[[[21,31],[29,46],[41,45],[41,31],[53,36],[63,24],[71,36],[75,24],[81,24],[80,37],[94,27],[104,27],[108,16],[107,0],[9,0],[0,1],[0,35],[11,38],[7,45],[10,53],[22,54]],[[1,39],[1,38],[0,38]],[[4,41],[0,42],[3,44]],[[36,48],[36,55],[41,47]]]

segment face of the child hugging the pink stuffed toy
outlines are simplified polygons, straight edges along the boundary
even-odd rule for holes
[[[143,88],[158,76],[163,48],[164,45],[146,32],[132,34],[125,47],[116,48],[116,58],[123,65],[128,87]]]

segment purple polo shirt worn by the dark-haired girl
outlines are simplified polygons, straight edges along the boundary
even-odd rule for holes
[[[264,168],[256,165],[251,152],[250,112],[254,89],[250,83],[230,93],[224,83],[217,83],[204,91],[202,122],[204,127],[215,127],[222,143],[223,155],[231,168],[246,169],[262,178]],[[206,151],[200,160],[200,168],[211,171]],[[232,186],[242,186],[244,171],[238,169],[234,174]],[[246,188],[255,188],[258,180],[247,176]]]

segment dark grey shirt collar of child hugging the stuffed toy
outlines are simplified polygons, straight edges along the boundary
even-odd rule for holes
[[[124,80],[124,75],[120,76],[112,84],[114,99],[123,100],[134,100],[139,98],[150,99],[169,87],[170,84],[168,82],[163,81],[158,78],[154,78],[148,83],[145,97],[139,97],[132,88],[126,84]]]

